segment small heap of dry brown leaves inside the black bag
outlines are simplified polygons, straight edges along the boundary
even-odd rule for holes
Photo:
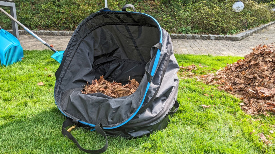
[[[85,85],[82,93],[83,94],[92,94],[92,93],[103,93],[113,98],[123,97],[131,95],[136,91],[139,86],[139,83],[135,79],[129,80],[129,83],[122,86],[122,83],[110,82],[100,76],[100,79],[92,80],[92,84]]]

